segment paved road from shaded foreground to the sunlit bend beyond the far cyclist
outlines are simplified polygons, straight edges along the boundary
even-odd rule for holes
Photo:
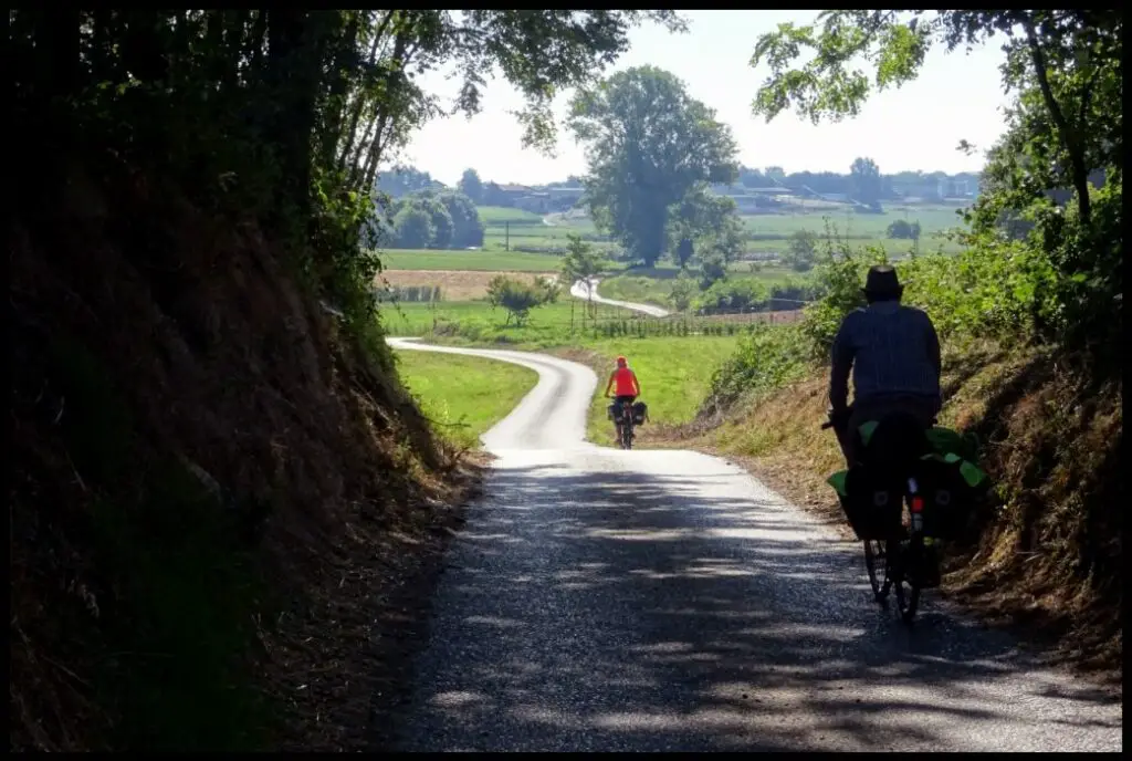
[[[483,437],[402,750],[1122,750],[1118,702],[931,598],[906,630],[857,545],[739,468],[583,442],[588,368],[445,350],[540,382]]]

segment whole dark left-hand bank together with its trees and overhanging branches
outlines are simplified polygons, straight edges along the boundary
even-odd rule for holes
[[[12,751],[380,746],[472,484],[376,320],[377,166],[421,67],[546,142],[643,18],[9,11]]]

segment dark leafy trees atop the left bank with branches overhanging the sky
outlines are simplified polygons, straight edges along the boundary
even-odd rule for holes
[[[548,148],[555,93],[599,78],[645,20],[684,28],[668,10],[29,7],[9,14],[14,123],[52,156],[33,186],[74,159],[173,178],[263,221],[365,309],[379,263],[359,236],[383,161],[434,116],[477,112],[494,74],[523,97],[524,142]],[[460,78],[452,106],[418,84],[437,68]],[[34,196],[29,215],[50,206]]]

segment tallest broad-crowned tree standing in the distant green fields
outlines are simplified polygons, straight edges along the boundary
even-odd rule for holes
[[[586,146],[594,223],[653,264],[667,245],[669,207],[703,182],[734,182],[736,145],[715,113],[653,66],[580,89],[569,127]]]

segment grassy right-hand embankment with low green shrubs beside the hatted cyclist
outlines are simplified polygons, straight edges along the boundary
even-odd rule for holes
[[[1123,649],[1122,384],[1029,337],[1038,297],[1018,287],[1029,275],[1017,256],[964,257],[966,270],[921,259],[903,273],[906,300],[924,306],[943,336],[941,424],[979,436],[996,485],[970,533],[952,544],[942,591],[1112,676]],[[824,482],[843,461],[820,429],[829,371],[820,347],[839,314],[826,301],[805,324],[745,340],[696,421],[669,444],[737,458],[843,524]]]

